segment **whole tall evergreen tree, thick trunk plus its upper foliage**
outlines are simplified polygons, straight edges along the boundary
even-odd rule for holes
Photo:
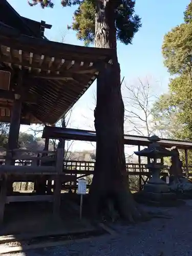
[[[53,8],[51,0],[33,0],[31,6]],[[127,183],[124,155],[124,104],[121,95],[120,66],[117,40],[131,44],[141,27],[135,15],[134,0],[62,0],[62,6],[77,5],[73,23],[69,26],[77,37],[98,48],[114,49],[108,65],[100,67],[97,77],[97,104],[94,111],[97,134],[96,164],[90,188],[92,214],[96,215],[101,202],[117,205],[119,214],[133,221],[140,212],[133,201]]]

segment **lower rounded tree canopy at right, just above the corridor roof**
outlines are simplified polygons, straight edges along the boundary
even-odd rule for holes
[[[184,84],[182,79],[178,77],[170,81],[169,93],[161,95],[154,103],[153,116],[162,137],[192,140],[191,104],[189,93],[180,93],[179,87]]]

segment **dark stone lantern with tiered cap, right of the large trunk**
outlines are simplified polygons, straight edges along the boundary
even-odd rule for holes
[[[161,140],[158,136],[154,135],[148,140],[151,141],[151,144],[147,148],[134,153],[137,156],[147,157],[147,164],[145,167],[148,168],[151,175],[151,178],[143,186],[142,193],[145,194],[146,198],[152,201],[159,201],[170,196],[169,186],[165,181],[160,179],[160,171],[165,168],[163,157],[172,156],[172,152],[166,150],[166,148],[158,143]]]

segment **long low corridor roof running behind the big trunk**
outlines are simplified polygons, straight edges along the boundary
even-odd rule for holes
[[[42,133],[42,138],[50,139],[70,139],[70,140],[80,140],[80,141],[92,141],[96,142],[95,131],[77,130],[77,129],[67,129],[60,127],[46,126],[44,132]],[[148,146],[151,141],[148,137],[136,136],[136,135],[124,135],[125,145],[140,145]],[[170,148],[172,146],[177,146],[180,149],[192,149],[192,141],[187,140],[170,140],[161,139],[159,143],[165,148]]]

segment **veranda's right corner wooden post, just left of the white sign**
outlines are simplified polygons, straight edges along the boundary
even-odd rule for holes
[[[63,147],[57,148],[57,160],[56,160],[56,176],[55,176],[55,188],[53,199],[53,214],[57,217],[60,211],[60,198],[61,198],[61,173],[63,168]]]

